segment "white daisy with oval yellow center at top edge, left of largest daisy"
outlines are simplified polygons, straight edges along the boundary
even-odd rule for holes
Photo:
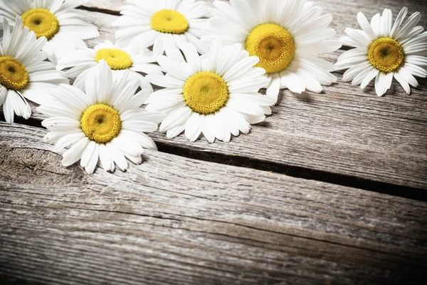
[[[206,53],[200,43],[202,29],[208,23],[201,19],[208,13],[206,1],[196,0],[127,0],[112,26],[119,27],[115,36],[122,46],[153,46],[154,58],[166,48],[194,43],[199,53]]]

